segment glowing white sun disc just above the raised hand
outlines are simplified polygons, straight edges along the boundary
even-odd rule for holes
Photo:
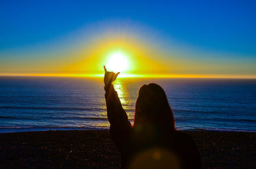
[[[106,68],[108,71],[122,72],[128,70],[129,62],[127,57],[122,52],[115,52],[109,55]]]

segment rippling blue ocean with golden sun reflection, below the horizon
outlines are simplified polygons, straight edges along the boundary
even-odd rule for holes
[[[133,121],[141,85],[166,91],[180,130],[256,131],[256,80],[118,78],[115,89]],[[0,77],[0,133],[108,129],[103,78]]]

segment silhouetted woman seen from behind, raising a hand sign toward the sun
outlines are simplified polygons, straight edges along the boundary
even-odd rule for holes
[[[112,84],[119,73],[104,70],[110,133],[121,153],[121,168],[202,168],[195,142],[175,129],[164,90],[157,84],[140,88],[131,126]]]

